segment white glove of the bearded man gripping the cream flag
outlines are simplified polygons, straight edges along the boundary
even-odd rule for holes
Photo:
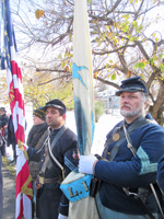
[[[79,171],[81,173],[94,174],[93,165],[98,161],[94,155],[81,155],[79,161]]]

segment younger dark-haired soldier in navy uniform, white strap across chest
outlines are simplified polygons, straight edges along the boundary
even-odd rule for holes
[[[44,106],[49,134],[38,149],[27,148],[30,161],[40,162],[37,183],[39,219],[68,219],[69,200],[60,183],[79,163],[77,135],[66,125],[66,105],[55,99]],[[21,154],[16,146],[16,154]],[[37,209],[36,209],[37,211]]]

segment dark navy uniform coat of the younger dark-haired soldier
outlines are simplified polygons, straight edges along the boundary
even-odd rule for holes
[[[58,129],[59,130],[59,129]],[[50,142],[52,142],[58,130],[54,130],[50,132]],[[40,161],[39,170],[45,161],[45,147],[38,153],[38,150],[28,148],[27,153],[30,160],[32,161]],[[60,162],[60,164],[65,168],[65,175],[67,176],[71,171],[77,169],[79,159],[75,154],[78,154],[78,139],[77,136],[68,128],[60,139],[57,141],[56,146],[52,149],[52,154]],[[51,159],[52,161],[52,159]],[[45,177],[52,178],[57,176],[61,176],[60,168],[52,161],[54,163],[54,172],[50,172],[46,169]],[[59,188],[60,183],[50,183],[44,184],[42,188],[42,194],[39,197],[39,218],[40,219],[57,219],[58,212],[61,215],[68,216],[69,201],[62,192]]]

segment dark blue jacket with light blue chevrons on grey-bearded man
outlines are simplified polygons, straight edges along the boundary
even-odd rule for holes
[[[116,127],[119,127],[117,124]],[[132,124],[129,124],[129,126]],[[115,127],[115,128],[116,128]],[[113,130],[107,135],[112,137]],[[164,129],[157,124],[147,124],[130,134],[134,157],[127,147],[127,140],[120,145],[114,161],[98,161],[95,165],[95,175],[102,180],[99,197],[102,204],[115,211],[128,215],[147,215],[143,207],[133,198],[127,196],[122,187],[137,192],[139,187],[148,187],[156,180],[157,161],[164,154]],[[116,141],[108,147],[112,151]],[[106,155],[108,159],[108,154]],[[147,207],[151,212],[159,208],[151,191],[149,192]]]

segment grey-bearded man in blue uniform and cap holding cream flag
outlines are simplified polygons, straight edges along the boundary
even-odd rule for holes
[[[116,95],[125,119],[107,134],[103,155],[81,155],[79,170],[101,181],[95,194],[101,219],[163,218],[155,180],[164,129],[145,113],[148,91],[140,77],[124,80]]]

